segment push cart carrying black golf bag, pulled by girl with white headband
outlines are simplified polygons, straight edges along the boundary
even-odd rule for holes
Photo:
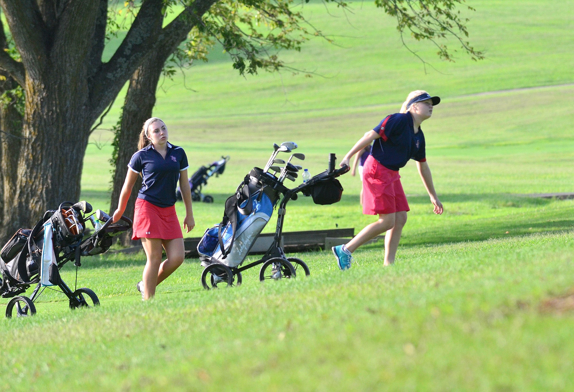
[[[18,230],[3,246],[0,251],[0,295],[11,298],[6,305],[6,317],[13,315],[14,307],[18,317],[36,313],[34,301],[46,287],[63,292],[72,309],[99,305],[98,296],[91,289],[74,287],[72,291],[61,279],[60,269],[68,261],[74,261],[76,286],[80,257],[106,252],[113,237],[131,229],[132,222],[122,216],[112,224],[110,216],[102,210],[90,215],[91,212],[92,206],[85,201],[63,202],[57,210],[46,211],[33,229]],[[88,220],[95,230],[84,239]],[[30,297],[21,295],[33,284],[36,288]]]

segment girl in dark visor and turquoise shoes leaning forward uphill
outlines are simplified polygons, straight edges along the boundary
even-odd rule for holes
[[[363,214],[379,215],[379,219],[347,244],[333,246],[340,269],[350,268],[355,249],[384,232],[385,265],[393,264],[406,223],[406,211],[409,211],[398,170],[409,159],[417,161],[418,174],[435,206],[435,214],[443,213],[443,204],[436,195],[426,163],[425,136],[420,127],[422,121],[432,115],[433,106],[439,103],[439,97],[431,97],[426,91],[411,92],[400,113],[385,117],[377,127],[366,132],[341,161],[341,166],[348,166],[353,155],[374,141],[371,155],[363,166]]]

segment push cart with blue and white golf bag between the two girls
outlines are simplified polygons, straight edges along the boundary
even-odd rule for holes
[[[301,166],[291,163],[293,158],[304,160],[304,154],[294,153],[285,162],[278,159],[279,152],[292,152],[297,148],[293,142],[273,144],[274,151],[263,169],[254,167],[239,184],[236,193],[227,199],[223,221],[207,229],[197,245],[201,265],[201,284],[205,289],[218,285],[240,285],[241,272],[262,264],[259,280],[295,277],[302,272],[309,275],[309,268],[300,258],[286,257],[281,248],[281,234],[289,200],[297,200],[298,193],[312,196],[316,204],[333,204],[341,199],[343,187],[336,177],[347,173],[348,166],[335,170],[335,154],[329,154],[329,168],[301,185],[289,189],[285,179],[295,181]],[[284,166],[278,166],[284,165]],[[282,198],[281,198],[282,197]],[[281,199],[281,202],[279,202]],[[265,227],[273,209],[277,210],[277,227],[273,242],[263,257],[241,266],[249,250]]]

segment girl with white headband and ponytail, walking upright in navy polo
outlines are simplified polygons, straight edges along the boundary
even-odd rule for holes
[[[157,117],[148,119],[139,134],[139,150],[127,165],[126,181],[119,196],[114,222],[121,218],[138,175],[142,187],[135,202],[133,240],[141,238],[148,258],[144,275],[135,287],[147,300],[156,294],[156,286],[172,274],[185,256],[183,233],[176,215],[176,187],[179,181],[185,204],[184,228],[193,229],[191,190],[187,178],[187,156],[181,147],[168,142],[168,128]],[[162,249],[167,258],[161,261]]]

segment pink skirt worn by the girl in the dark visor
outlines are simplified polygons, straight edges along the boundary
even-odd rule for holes
[[[409,211],[398,171],[386,168],[373,155],[363,166],[363,214],[393,214]]]

